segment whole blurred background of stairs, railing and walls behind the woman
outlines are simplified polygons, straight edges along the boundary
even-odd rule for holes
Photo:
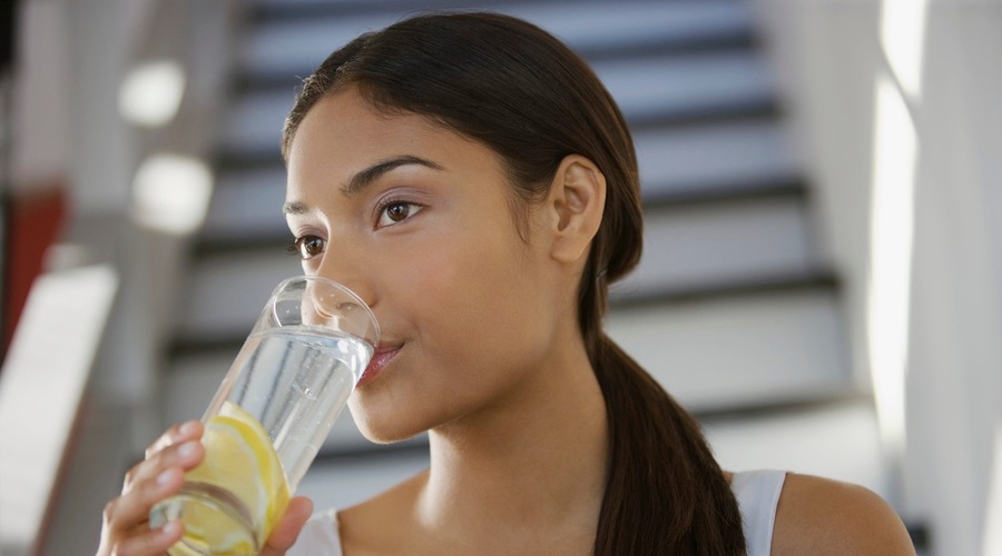
[[[278,140],[301,79],[458,7],[539,23],[620,102],[647,237],[608,329],[724,466],[858,483],[921,554],[1002,554],[1002,2],[0,7],[0,554],[92,554],[126,469],[299,271]],[[301,492],[353,504],[424,444],[345,411]]]

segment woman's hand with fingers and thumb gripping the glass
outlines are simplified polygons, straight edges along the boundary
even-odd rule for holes
[[[150,529],[149,512],[160,500],[177,494],[185,473],[194,469],[205,456],[199,421],[176,425],[149,448],[146,458],[126,474],[121,495],[105,506],[101,544],[98,556],[163,555],[184,535],[180,522],[169,522]],[[305,497],[289,500],[288,508],[275,527],[262,556],[285,554],[313,512]]]

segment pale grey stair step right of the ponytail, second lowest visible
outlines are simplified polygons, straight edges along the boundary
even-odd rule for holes
[[[622,308],[606,330],[694,411],[856,389],[829,288]]]

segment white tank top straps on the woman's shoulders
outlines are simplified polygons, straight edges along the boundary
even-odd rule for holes
[[[776,505],[786,480],[785,471],[739,471],[730,489],[741,510],[748,556],[768,556],[773,544]],[[337,512],[328,509],[310,518],[287,556],[342,556]]]

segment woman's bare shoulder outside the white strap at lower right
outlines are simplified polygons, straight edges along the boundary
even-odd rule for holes
[[[901,518],[873,492],[788,474],[776,508],[773,554],[894,556],[915,549]]]

